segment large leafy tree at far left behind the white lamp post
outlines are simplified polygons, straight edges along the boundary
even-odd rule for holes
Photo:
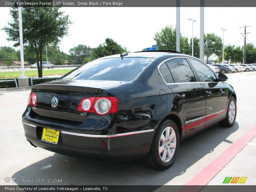
[[[59,7],[22,7],[23,43],[36,54],[38,77],[42,77],[43,50],[47,44],[58,44],[61,38],[68,34],[71,23],[68,15],[59,11]],[[4,27],[9,35],[7,40],[19,45],[18,9],[11,8],[12,22]],[[40,61],[40,65],[39,65]]]

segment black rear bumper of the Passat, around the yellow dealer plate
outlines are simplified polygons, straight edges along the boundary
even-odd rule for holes
[[[58,144],[42,141],[42,125],[23,119],[26,139],[36,147],[68,156],[90,159],[129,160],[144,158],[148,155],[154,130],[144,130],[113,135],[92,135],[73,130],[59,129]]]

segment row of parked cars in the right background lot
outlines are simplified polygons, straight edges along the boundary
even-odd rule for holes
[[[241,71],[256,71],[256,64],[207,64],[215,73],[237,73]]]

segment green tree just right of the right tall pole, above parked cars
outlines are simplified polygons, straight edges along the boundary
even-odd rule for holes
[[[217,56],[221,55],[222,40],[220,36],[214,33],[207,33],[204,35],[204,55],[206,56],[206,62],[212,54]]]

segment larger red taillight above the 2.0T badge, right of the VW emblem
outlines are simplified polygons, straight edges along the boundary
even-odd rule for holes
[[[78,111],[106,115],[117,113],[118,100],[116,97],[88,97],[82,99],[77,107]]]

